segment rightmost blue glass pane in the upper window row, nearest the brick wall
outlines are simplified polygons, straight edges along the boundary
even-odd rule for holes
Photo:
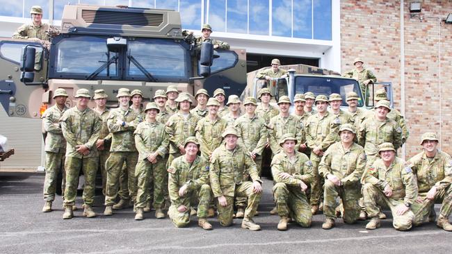
[[[314,39],[331,40],[331,0],[314,1]]]

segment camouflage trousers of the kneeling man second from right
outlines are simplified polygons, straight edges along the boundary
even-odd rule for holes
[[[402,215],[396,214],[396,208],[398,205],[404,205],[403,198],[394,199],[388,198],[382,192],[382,190],[371,183],[366,183],[362,190],[364,196],[364,205],[366,206],[366,212],[369,217],[377,217],[380,212],[378,205],[382,207],[388,207],[392,212],[392,226],[396,230],[409,230],[414,222],[414,213],[412,210],[408,210]]]

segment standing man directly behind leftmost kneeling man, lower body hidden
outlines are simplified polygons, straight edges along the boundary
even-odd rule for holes
[[[179,103],[179,110],[166,123],[166,133],[170,137],[170,155],[167,167],[170,166],[172,160],[185,154],[185,139],[195,135],[196,124],[199,120],[196,115],[190,112],[193,101],[188,94],[182,93],[176,99],[176,102]]]

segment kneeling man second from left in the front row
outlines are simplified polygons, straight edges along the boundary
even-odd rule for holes
[[[256,163],[247,149],[237,144],[239,135],[235,128],[229,127],[223,133],[225,143],[213,151],[210,161],[210,184],[218,209],[218,221],[221,226],[230,226],[234,214],[234,196],[248,197],[248,206],[242,221],[242,228],[260,230],[252,221],[261,199],[261,178]],[[243,181],[247,172],[252,182]]]

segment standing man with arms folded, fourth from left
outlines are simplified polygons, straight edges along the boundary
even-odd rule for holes
[[[106,160],[107,182],[104,211],[106,216],[113,215],[113,205],[114,209],[122,209],[129,205],[130,198],[132,201],[136,201],[135,166],[138,162],[138,151],[136,151],[134,131],[141,118],[138,117],[138,112],[129,108],[130,93],[127,88],[120,88],[116,97],[120,107],[111,110],[107,119],[112,140],[110,157]],[[122,196],[120,201],[115,204],[119,194],[120,174],[123,167],[127,169],[129,193],[127,196]]]

